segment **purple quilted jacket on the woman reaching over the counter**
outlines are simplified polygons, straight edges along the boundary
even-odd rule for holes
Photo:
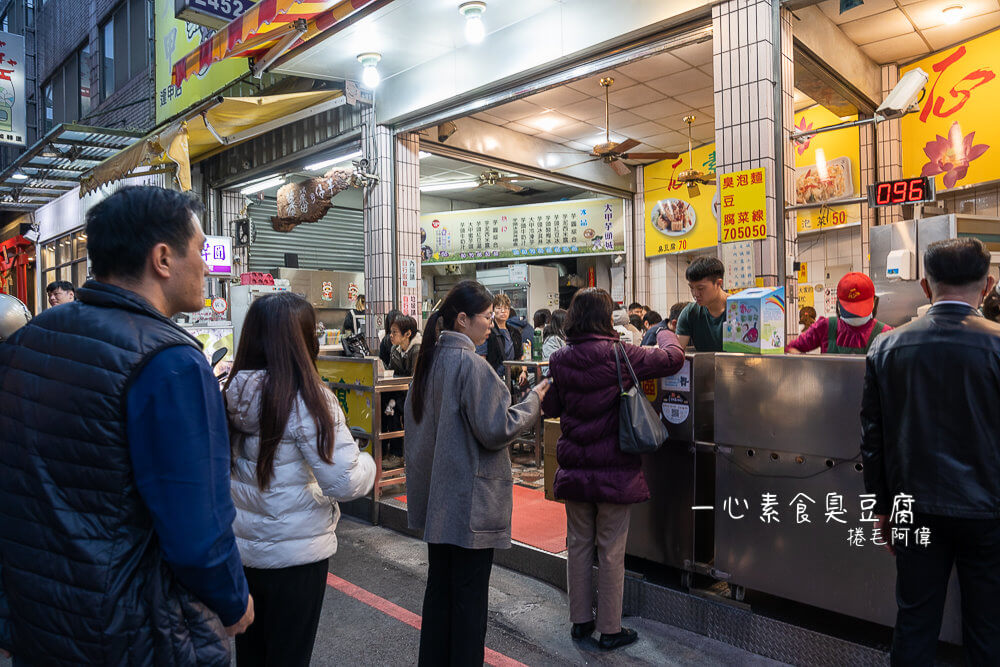
[[[555,480],[555,496],[561,500],[628,505],[649,498],[642,460],[618,449],[617,340],[600,335],[570,338],[549,359],[554,384],[542,409],[546,416],[559,417],[562,426]],[[673,375],[684,363],[684,350],[673,332],[663,329],[656,343],[659,349],[624,344],[640,381]],[[632,386],[624,364],[622,379],[626,390]]]

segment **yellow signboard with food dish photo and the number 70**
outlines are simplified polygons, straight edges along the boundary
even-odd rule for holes
[[[694,169],[715,174],[715,144],[691,153]],[[688,155],[661,160],[643,169],[646,186],[646,257],[711,248],[719,243],[718,201],[715,185],[698,185],[692,196],[677,174],[691,169]]]

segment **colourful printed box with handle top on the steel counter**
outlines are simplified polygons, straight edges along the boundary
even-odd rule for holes
[[[726,299],[722,349],[749,354],[783,353],[785,288],[751,287]]]

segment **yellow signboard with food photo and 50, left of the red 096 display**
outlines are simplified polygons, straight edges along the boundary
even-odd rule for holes
[[[851,116],[846,120],[856,120]],[[809,130],[844,122],[820,105],[795,114],[795,130]],[[807,137],[795,145],[795,203],[830,202],[827,206],[796,211],[799,232],[841,227],[861,222],[861,204],[838,206],[838,199],[861,192],[861,136],[856,127]]]

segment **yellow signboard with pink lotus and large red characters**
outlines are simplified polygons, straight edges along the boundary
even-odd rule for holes
[[[1000,30],[900,71],[930,75],[920,112],[902,120],[904,177],[932,176],[938,190],[1000,178],[997,53]]]

